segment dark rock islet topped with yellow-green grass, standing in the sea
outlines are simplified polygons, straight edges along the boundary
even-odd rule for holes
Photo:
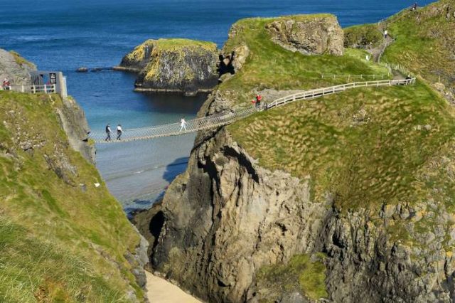
[[[193,93],[218,83],[215,43],[188,39],[147,40],[127,54],[120,69],[139,73],[136,90]]]

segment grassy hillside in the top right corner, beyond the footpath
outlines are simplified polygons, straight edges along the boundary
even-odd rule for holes
[[[446,10],[451,4],[451,18]],[[401,63],[430,82],[441,80],[455,88],[455,18],[453,1],[430,4],[417,13],[405,10],[388,19],[390,33],[397,41],[387,48],[384,61]],[[439,79],[441,76],[441,79]]]

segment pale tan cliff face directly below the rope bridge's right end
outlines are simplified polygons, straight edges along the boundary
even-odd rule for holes
[[[166,192],[153,265],[210,302],[243,302],[262,266],[311,250],[325,208],[309,180],[255,166],[226,132],[200,144]]]

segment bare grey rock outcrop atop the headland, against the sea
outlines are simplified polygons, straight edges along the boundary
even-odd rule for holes
[[[343,55],[344,33],[335,16],[282,17],[266,26],[272,40],[304,55]]]

